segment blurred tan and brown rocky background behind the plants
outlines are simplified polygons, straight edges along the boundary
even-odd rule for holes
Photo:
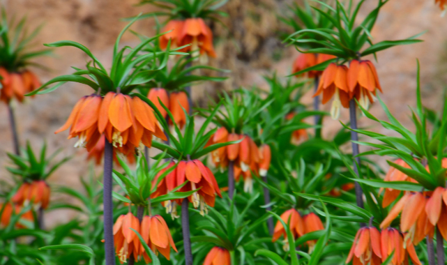
[[[363,14],[368,13],[376,2],[367,1],[358,18],[362,19]],[[391,0],[382,8],[377,26],[372,31],[374,42],[407,38],[427,31],[421,37],[425,40],[423,43],[380,52],[378,61],[374,62],[384,90],[384,95],[380,96],[404,124],[409,124],[408,106],[416,105],[416,59],[421,61],[423,103],[437,110],[443,104],[441,95],[447,82],[447,17],[441,17],[441,11],[433,2],[415,0],[409,4],[408,1]],[[0,3],[6,8],[9,17],[26,15],[31,27],[44,24],[36,39],[36,48],[43,43],[74,40],[89,47],[106,66],[110,65],[114,40],[127,23],[121,19],[155,10],[151,6],[136,6],[137,0],[1,0]],[[218,54],[218,58],[211,59],[210,64],[232,70],[232,73],[222,84],[206,83],[193,87],[192,97],[196,104],[206,104],[207,95],[222,89],[231,90],[239,86],[268,89],[263,75],[276,72],[278,76],[285,77],[291,73],[291,65],[298,52],[294,47],[282,44],[280,37],[291,33],[291,29],[278,19],[278,16],[290,15],[291,3],[294,0],[230,0],[222,8],[229,14],[222,20],[225,27],[218,23],[209,24],[215,36],[214,44]],[[155,27],[154,19],[146,19],[137,22],[131,29],[153,36]],[[130,32],[123,36],[123,45],[135,46],[138,42],[138,38]],[[54,56],[41,60],[39,63],[50,68],[50,71],[33,70],[42,82],[46,82],[57,75],[73,73],[70,66],[83,68],[87,58],[74,47],[61,47],[54,50]],[[76,139],[66,140],[68,132],[54,135],[54,131],[65,123],[77,100],[91,92],[86,86],[66,84],[52,93],[28,99],[23,105],[15,104],[22,146],[29,140],[35,149],[40,149],[46,141],[49,151],[63,147],[61,156],[73,155],[72,160],[48,179],[50,185],[63,183],[75,187],[79,185],[79,176],[86,176],[89,167],[85,162],[86,150],[75,149],[73,145]],[[312,92],[306,94],[304,103],[312,104]],[[329,107],[330,104],[323,108],[328,110]],[[372,105],[371,112],[379,119],[386,119],[378,104]],[[340,119],[344,123],[349,121],[346,109],[342,110]],[[359,126],[370,124],[361,118]],[[332,121],[329,117],[325,119],[324,135],[331,135],[331,132],[339,129],[338,121]],[[386,131],[381,133],[387,134]],[[6,106],[0,104],[1,179],[10,179],[4,167],[8,165],[6,152],[12,151],[8,112]],[[70,218],[69,215],[54,212],[47,214],[52,215],[52,222],[66,222]]]

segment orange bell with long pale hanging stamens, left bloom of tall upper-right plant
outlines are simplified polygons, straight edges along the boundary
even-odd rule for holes
[[[349,107],[349,89],[347,84],[348,68],[339,66],[336,63],[330,63],[323,71],[318,84],[315,96],[323,93],[321,103],[326,104],[333,98],[331,107],[332,119],[338,119],[340,116],[340,107]]]

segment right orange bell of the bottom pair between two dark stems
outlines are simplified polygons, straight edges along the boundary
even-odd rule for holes
[[[143,217],[141,224],[141,235],[144,242],[151,248],[154,253],[160,252],[167,260],[169,260],[169,254],[171,248],[177,251],[177,248],[172,239],[169,227],[160,215]],[[139,255],[142,255],[146,263],[152,262],[146,250],[142,244],[140,244]]]

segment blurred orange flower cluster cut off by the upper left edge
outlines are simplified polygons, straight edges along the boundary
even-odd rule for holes
[[[0,100],[9,103],[12,98],[16,98],[19,102],[24,100],[24,94],[37,89],[40,82],[36,75],[31,71],[25,70],[22,73],[8,73],[8,70],[0,68],[1,89]]]

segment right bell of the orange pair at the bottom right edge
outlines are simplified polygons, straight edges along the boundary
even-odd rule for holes
[[[405,236],[407,238],[407,236]],[[381,244],[381,261],[385,260],[394,252],[393,259],[391,259],[391,264],[393,265],[403,265],[408,264],[409,255],[413,264],[422,265],[421,261],[416,255],[416,250],[414,250],[414,245],[409,239],[402,237],[397,229],[388,227],[383,229],[380,234],[380,244]],[[380,264],[380,262],[378,263]]]

